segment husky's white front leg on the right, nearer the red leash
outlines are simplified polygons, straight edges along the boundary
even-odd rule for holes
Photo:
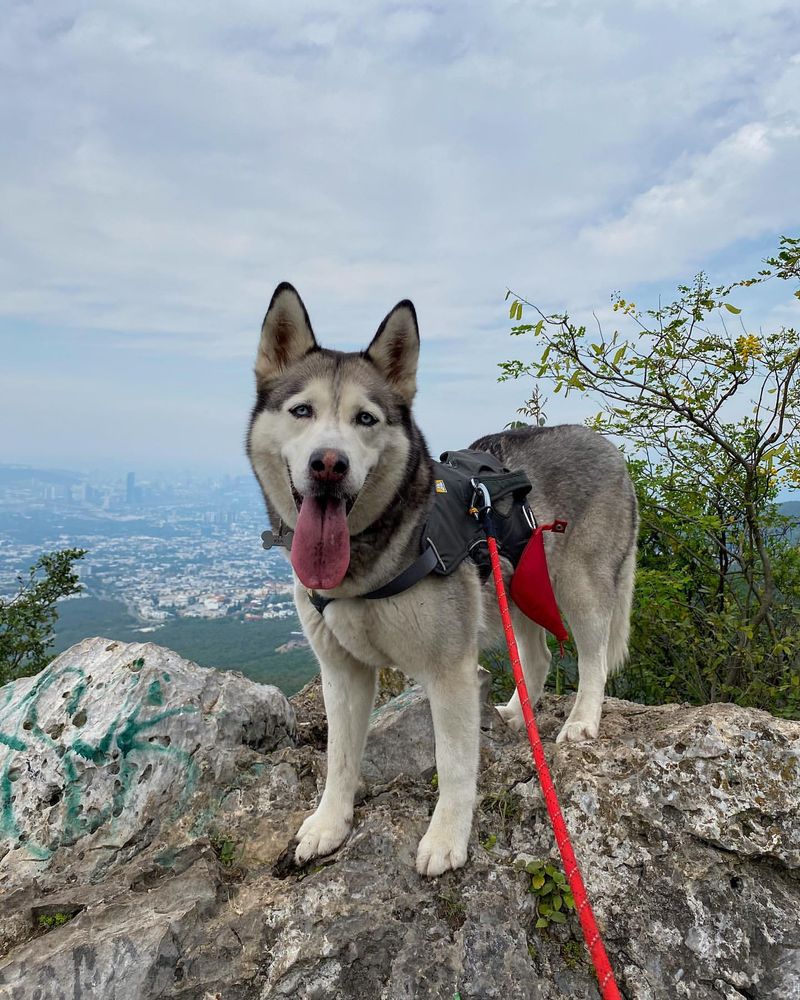
[[[480,695],[476,657],[418,674],[431,704],[436,738],[439,801],[417,850],[417,871],[436,876],[460,868],[475,807],[480,739]]]

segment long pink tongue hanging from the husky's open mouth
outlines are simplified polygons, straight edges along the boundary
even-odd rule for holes
[[[292,538],[292,566],[301,583],[313,590],[333,590],[349,565],[344,501],[304,497]]]

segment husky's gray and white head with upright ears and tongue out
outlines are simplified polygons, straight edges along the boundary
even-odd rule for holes
[[[292,565],[308,587],[344,579],[350,536],[386,510],[406,474],[419,330],[400,302],[369,347],[317,344],[295,289],[281,284],[261,327],[247,451],[265,496],[294,529]]]

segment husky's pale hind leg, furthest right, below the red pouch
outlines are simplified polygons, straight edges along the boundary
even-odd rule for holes
[[[578,649],[578,694],[557,743],[593,740],[600,730],[615,603],[610,586],[582,574],[571,578],[562,607]]]

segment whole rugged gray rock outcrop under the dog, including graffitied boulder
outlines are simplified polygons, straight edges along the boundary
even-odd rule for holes
[[[319,686],[293,699],[295,730],[274,689],[110,645],[0,689],[3,1000],[598,997],[574,916],[535,926],[514,862],[557,852],[524,735],[496,714],[466,868],[414,868],[436,789],[412,689],[375,713],[352,835],[298,870],[292,835],[324,780]],[[624,996],[800,1000],[800,724],[610,699],[599,740],[556,746],[569,702],[537,717]],[[162,750],[138,745],[151,736]],[[70,820],[71,783],[91,821]]]

